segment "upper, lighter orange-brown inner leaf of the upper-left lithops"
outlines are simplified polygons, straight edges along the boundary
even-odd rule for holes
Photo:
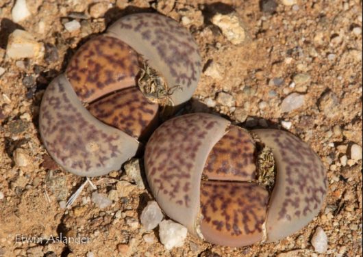
[[[78,49],[66,68],[66,77],[86,103],[135,85],[138,55],[114,37],[97,36]]]

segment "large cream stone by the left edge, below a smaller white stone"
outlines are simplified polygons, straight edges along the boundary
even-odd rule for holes
[[[6,46],[6,55],[12,59],[42,57],[44,46],[36,42],[31,33],[21,29],[15,29],[10,34],[8,45]]]

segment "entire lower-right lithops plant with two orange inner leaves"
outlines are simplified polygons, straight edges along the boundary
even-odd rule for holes
[[[165,213],[217,245],[283,239],[319,212],[325,167],[286,131],[251,132],[208,113],[164,122],[145,150],[145,170]]]

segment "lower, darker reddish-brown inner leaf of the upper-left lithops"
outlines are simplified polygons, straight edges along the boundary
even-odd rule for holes
[[[129,87],[88,106],[97,119],[136,138],[148,137],[158,124],[158,104],[151,103],[138,87]]]

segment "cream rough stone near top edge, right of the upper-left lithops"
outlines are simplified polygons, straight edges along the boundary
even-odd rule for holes
[[[241,26],[237,16],[216,14],[212,18],[212,23],[221,29],[223,36],[232,44],[240,44],[245,41],[245,29]]]

